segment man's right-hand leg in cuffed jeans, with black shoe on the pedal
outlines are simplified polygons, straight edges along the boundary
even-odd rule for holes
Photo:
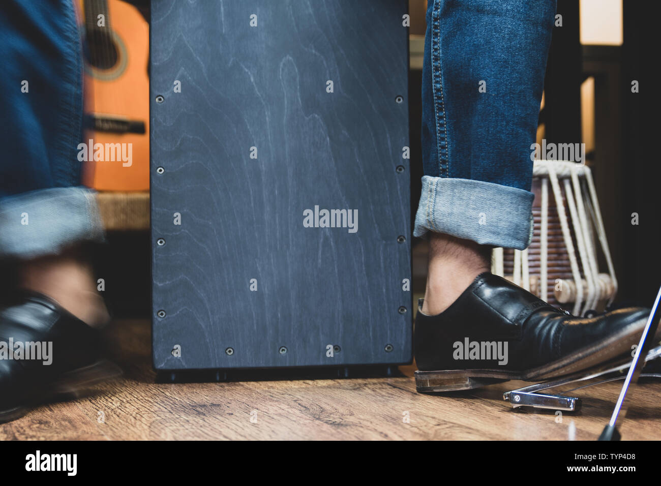
[[[422,81],[428,237],[418,391],[559,376],[630,350],[646,309],[567,315],[494,276],[493,247],[532,236],[532,162],[555,0],[429,0]]]

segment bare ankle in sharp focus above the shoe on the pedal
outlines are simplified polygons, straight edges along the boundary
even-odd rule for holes
[[[491,267],[491,247],[442,233],[430,233],[427,286],[422,312],[447,309],[479,274]]]

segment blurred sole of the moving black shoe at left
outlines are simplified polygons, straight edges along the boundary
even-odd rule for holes
[[[11,409],[0,410],[0,424],[15,421],[28,413],[28,410],[43,403],[44,400],[58,397],[58,395],[77,395],[81,389],[104,382],[110,378],[122,375],[122,369],[107,360],[98,360],[88,366],[77,368],[61,374],[55,382],[49,385],[46,391],[28,399],[24,405],[17,405]]]

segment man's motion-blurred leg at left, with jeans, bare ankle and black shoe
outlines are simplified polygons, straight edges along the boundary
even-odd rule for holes
[[[83,64],[73,0],[4,0],[0,58],[8,121],[0,132],[0,259],[15,264],[23,290],[0,309],[0,341],[15,346],[0,359],[3,422],[64,376],[91,377],[99,351],[92,326],[108,314],[82,251],[103,229],[95,194],[78,186]],[[19,343],[46,348],[16,354]]]

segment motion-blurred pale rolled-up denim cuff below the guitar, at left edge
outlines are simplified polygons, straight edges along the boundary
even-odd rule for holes
[[[75,243],[103,240],[93,190],[56,187],[0,200],[0,258],[55,255]]]

